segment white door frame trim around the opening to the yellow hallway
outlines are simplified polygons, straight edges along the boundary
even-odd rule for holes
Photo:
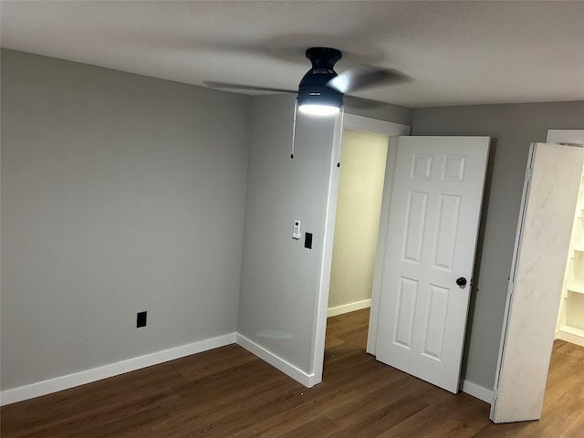
[[[339,173],[335,172],[337,170],[337,163],[339,162],[340,156],[340,144],[342,141],[343,130],[360,130],[363,132],[370,132],[375,134],[387,135],[390,137],[390,145],[388,146],[388,160],[391,154],[391,137],[396,137],[399,135],[410,135],[411,126],[402,125],[401,123],[394,123],[392,121],[370,119],[369,117],[358,116],[355,114],[345,113],[342,117],[337,120],[337,125],[335,126],[335,132],[333,136],[333,147],[332,154],[330,157],[330,166],[332,172],[330,172],[330,179],[328,181],[328,194],[326,201],[326,214],[325,214],[325,227],[324,227],[324,242],[322,250],[322,263],[320,264],[320,273],[318,278],[318,291],[317,291],[317,303],[315,306],[315,337],[313,339],[312,345],[312,372],[310,386],[318,384],[322,381],[322,371],[324,367],[324,351],[325,351],[325,339],[327,336],[327,310],[328,310],[328,291],[330,288],[330,270],[332,267],[332,248],[333,240],[335,236],[335,220],[337,216],[337,200],[339,196]],[[387,165],[387,162],[386,162]],[[386,174],[386,180],[387,180]],[[390,178],[391,180],[391,178]],[[384,183],[384,194],[385,198],[385,184]],[[381,211],[383,211],[383,205],[381,205]],[[381,213],[383,214],[383,213]],[[381,224],[381,221],[380,221]],[[379,245],[379,238],[378,238]],[[379,248],[378,248],[379,252]],[[376,271],[377,271],[377,260],[376,260]],[[375,277],[373,279],[375,282]],[[381,280],[380,280],[381,282]],[[375,287],[373,287],[375,290]],[[377,298],[377,303],[375,306],[379,306],[379,297]],[[371,314],[373,312],[373,300],[371,300]],[[372,319],[370,319],[370,324]],[[377,322],[377,315],[375,318],[375,323]],[[368,341],[369,343],[369,341]]]

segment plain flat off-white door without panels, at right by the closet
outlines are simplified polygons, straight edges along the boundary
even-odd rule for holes
[[[494,422],[541,415],[583,161],[581,147],[531,147],[491,406]]]

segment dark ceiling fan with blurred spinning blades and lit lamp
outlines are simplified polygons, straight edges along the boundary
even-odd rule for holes
[[[336,48],[311,47],[306,51],[306,57],[310,60],[312,68],[300,80],[297,90],[268,89],[210,81],[205,81],[204,84],[212,89],[297,93],[297,107],[301,112],[310,115],[333,115],[343,107],[343,98],[346,93],[374,85],[395,84],[408,80],[408,77],[395,70],[369,66],[349,68],[337,74],[334,67],[342,57],[342,53]],[[350,99],[358,98],[350,97]]]

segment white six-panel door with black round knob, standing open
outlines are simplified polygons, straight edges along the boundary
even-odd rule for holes
[[[397,141],[375,354],[456,393],[488,137]]]

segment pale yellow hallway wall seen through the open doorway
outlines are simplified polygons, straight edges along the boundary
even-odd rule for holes
[[[388,137],[343,134],[328,308],[370,299]]]

